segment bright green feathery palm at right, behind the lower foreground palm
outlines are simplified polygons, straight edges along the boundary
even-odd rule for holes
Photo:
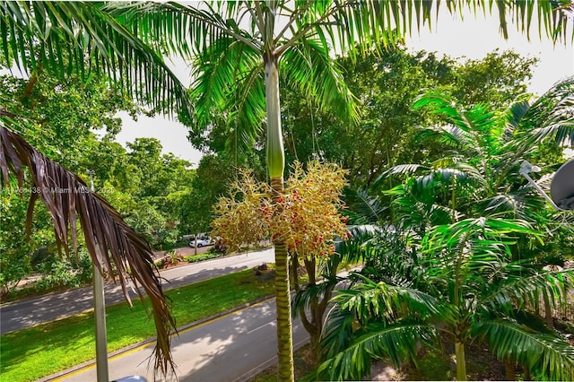
[[[491,111],[484,105],[466,109],[446,94],[427,91],[413,108],[428,109],[444,120],[444,125],[431,126],[422,134],[438,141],[446,155],[426,166],[396,166],[376,185],[389,175],[407,175],[404,185],[394,191],[401,195],[394,202],[396,212],[405,206],[411,213],[411,205],[420,205],[426,208],[420,215],[429,226],[485,214],[547,220],[552,212],[544,209],[542,198],[533,197],[530,187],[524,187],[518,169],[523,161],[552,168],[555,155],[541,152],[574,142],[573,94],[574,77],[570,77],[532,103],[520,100],[507,110]]]

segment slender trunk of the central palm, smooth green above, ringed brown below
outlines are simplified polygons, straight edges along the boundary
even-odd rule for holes
[[[271,53],[265,56],[265,101],[267,111],[267,169],[273,201],[283,195],[283,133],[279,107],[279,72],[277,57]],[[281,213],[275,208],[275,213]],[[287,246],[282,235],[273,238],[275,247],[275,298],[277,304],[277,378],[280,381],[294,380],[293,343],[291,337],[291,291],[289,287],[289,265]]]

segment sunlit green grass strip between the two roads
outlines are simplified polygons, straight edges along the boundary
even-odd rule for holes
[[[245,270],[167,291],[178,326],[273,294],[274,279]],[[73,303],[73,302],[72,302]],[[108,351],[152,337],[155,328],[145,307],[120,303],[106,309]],[[93,313],[83,313],[0,336],[0,381],[46,377],[95,358]]]

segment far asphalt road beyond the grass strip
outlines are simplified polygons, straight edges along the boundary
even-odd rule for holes
[[[161,271],[161,276],[166,279],[163,282],[164,290],[170,290],[222,274],[248,269],[261,265],[264,262],[274,262],[273,249],[178,266]],[[119,283],[109,282],[106,283],[104,288],[107,305],[125,300]],[[130,297],[137,298],[135,291],[130,291]],[[72,316],[91,308],[91,287],[77,288],[30,300],[3,304],[0,306],[0,334],[53,321],[57,318]]]

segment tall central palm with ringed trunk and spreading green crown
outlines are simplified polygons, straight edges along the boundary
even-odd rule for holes
[[[454,13],[465,3],[449,2],[448,8]],[[506,36],[506,15],[512,12],[519,28],[527,31],[536,11],[548,36],[565,38],[570,3],[560,3],[563,8],[554,10],[546,2],[497,2],[501,30]],[[474,5],[491,9],[484,1]],[[143,39],[152,40],[162,51],[187,57],[195,65],[191,93],[196,128],[209,126],[210,116],[223,111],[233,134],[253,144],[266,117],[266,161],[275,198],[283,192],[284,171],[279,79],[291,82],[322,109],[333,109],[350,119],[357,117],[354,100],[331,52],[338,47],[353,55],[373,45],[382,48],[412,30],[413,24],[420,29],[433,14],[433,3],[418,1],[272,0],[118,4],[116,8],[117,17],[126,18]],[[289,380],[293,370],[288,254],[280,236],[274,247],[278,374]]]

